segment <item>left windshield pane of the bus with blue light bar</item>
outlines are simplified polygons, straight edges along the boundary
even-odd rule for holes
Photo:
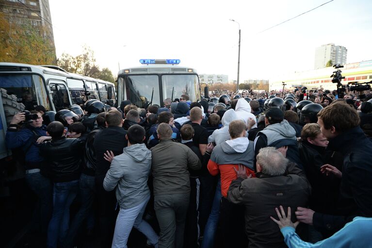
[[[125,77],[127,99],[134,105],[144,108],[151,102],[152,105],[160,105],[159,77],[157,75],[130,75]],[[152,92],[154,94],[152,95]]]

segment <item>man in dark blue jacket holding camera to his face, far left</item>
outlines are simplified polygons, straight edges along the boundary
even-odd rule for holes
[[[41,235],[46,238],[52,209],[52,187],[49,178],[40,173],[44,159],[39,154],[37,139],[47,135],[46,126],[42,125],[42,122],[43,118],[37,111],[16,114],[6,132],[5,144],[9,149],[20,149],[18,156],[15,157],[24,160],[19,162],[25,167],[26,182],[38,198],[32,222],[40,223]],[[23,127],[18,130],[22,123]]]

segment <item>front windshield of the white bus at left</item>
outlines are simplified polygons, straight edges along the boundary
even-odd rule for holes
[[[34,76],[41,80],[39,76]],[[15,104],[23,103],[26,110],[34,110],[38,105],[32,75],[1,75],[0,88],[5,89],[8,95],[15,95]]]

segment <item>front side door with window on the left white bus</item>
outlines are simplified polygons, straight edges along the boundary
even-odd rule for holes
[[[68,94],[66,83],[62,80],[48,81],[50,98],[52,99],[55,111],[69,108],[71,101]]]

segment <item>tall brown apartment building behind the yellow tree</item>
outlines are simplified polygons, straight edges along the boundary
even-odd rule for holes
[[[49,0],[0,0],[0,12],[9,20],[9,23],[29,23],[39,30],[40,34],[49,40],[55,54]]]

